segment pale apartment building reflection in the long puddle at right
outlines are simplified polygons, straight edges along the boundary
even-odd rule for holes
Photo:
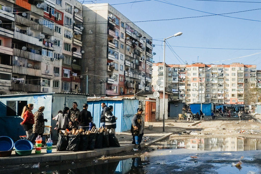
[[[186,148],[200,151],[249,151],[260,150],[261,140],[228,138],[194,138],[169,140],[163,148]]]

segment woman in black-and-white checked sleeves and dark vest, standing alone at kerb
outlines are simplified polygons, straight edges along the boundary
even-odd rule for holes
[[[138,112],[132,118],[131,133],[133,136],[133,141],[136,145],[138,145],[138,148],[141,149],[140,143],[144,134],[144,121],[141,116],[143,109],[138,108],[137,111]]]

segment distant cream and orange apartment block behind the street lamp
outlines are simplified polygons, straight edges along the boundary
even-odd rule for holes
[[[244,91],[261,86],[256,65],[173,64],[165,70],[166,91],[172,93],[171,99],[183,103],[244,104]],[[152,85],[159,79],[159,90],[163,90],[163,63],[153,63],[152,76]]]

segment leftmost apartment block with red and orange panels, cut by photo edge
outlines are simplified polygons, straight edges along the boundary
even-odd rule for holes
[[[0,7],[1,95],[76,92],[81,81],[82,4],[3,0]]]

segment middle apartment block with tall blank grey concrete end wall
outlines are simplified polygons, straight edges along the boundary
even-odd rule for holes
[[[109,96],[151,91],[152,37],[106,3],[84,4],[82,14],[82,49],[88,52],[81,65],[81,74],[88,70],[82,92]]]

